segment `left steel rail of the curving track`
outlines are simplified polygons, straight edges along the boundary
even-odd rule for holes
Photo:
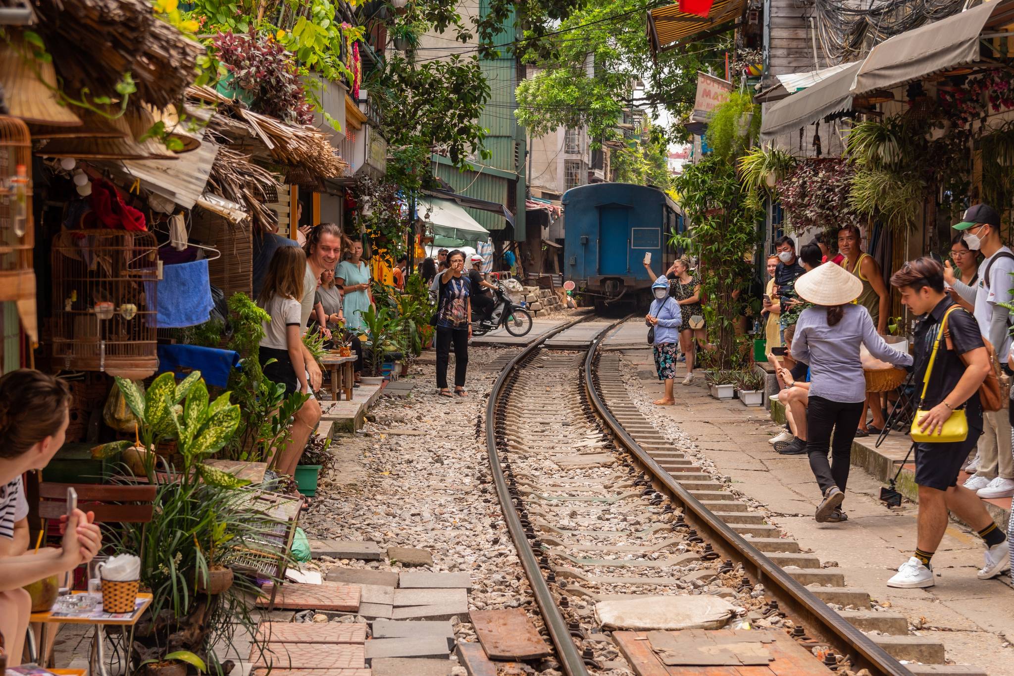
[[[535,597],[535,603],[538,604],[538,608],[542,613],[542,620],[546,622],[546,628],[549,630],[550,637],[553,640],[553,645],[557,649],[557,657],[560,661],[560,666],[563,667],[564,672],[566,672],[568,676],[588,676],[588,670],[585,669],[584,656],[581,654],[581,651],[578,650],[577,646],[574,645],[574,641],[571,639],[570,627],[567,624],[567,620],[565,620],[563,614],[561,614],[560,608],[557,606],[556,599],[553,597],[553,593],[550,591],[550,587],[547,584],[546,579],[539,572],[538,559],[532,552],[531,544],[528,542],[528,538],[524,534],[524,528],[521,525],[521,518],[514,509],[514,502],[507,485],[507,479],[504,477],[503,468],[500,466],[500,454],[497,452],[496,415],[497,407],[500,404],[500,395],[504,384],[507,382],[507,379],[511,376],[517,365],[533,354],[549,339],[553,337],[557,333],[567,330],[575,324],[593,317],[594,315],[578,317],[577,319],[563,324],[562,326],[558,326],[550,331],[547,331],[537,341],[524,348],[517,354],[517,356],[508,362],[507,366],[505,366],[500,372],[496,382],[493,383],[493,389],[490,390],[490,399],[486,404],[486,451],[490,459],[490,470],[493,473],[493,481],[497,486],[497,497],[500,500],[500,511],[503,512],[504,522],[507,524],[508,531],[510,531],[510,538],[514,541],[514,547],[517,549],[517,557],[520,559],[521,567],[524,569],[524,574],[528,578],[528,584],[531,585],[531,593]],[[612,327],[625,319],[626,317],[624,319],[618,319],[617,321],[605,326],[602,331],[595,336],[595,340],[612,329]]]

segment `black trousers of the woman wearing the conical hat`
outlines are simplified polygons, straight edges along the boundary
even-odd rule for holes
[[[856,438],[859,420],[865,409],[865,401],[842,403],[822,396],[810,396],[806,406],[806,453],[821,495],[832,485],[845,493],[852,461],[852,441]],[[831,455],[829,463],[828,448]]]

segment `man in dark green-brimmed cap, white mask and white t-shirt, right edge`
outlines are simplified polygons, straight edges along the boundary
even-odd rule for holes
[[[974,286],[959,282],[950,261],[944,264],[944,281],[974,306],[983,337],[993,345],[997,357],[1003,359],[1011,348],[1010,310],[1000,303],[1012,300],[1014,252],[1000,239],[1000,214],[987,204],[977,204],[953,227],[963,232],[969,249],[982,251],[983,262]],[[980,498],[1009,498],[1014,496],[1014,456],[1008,411],[985,411],[983,417],[979,470],[964,482],[964,487],[977,492]]]

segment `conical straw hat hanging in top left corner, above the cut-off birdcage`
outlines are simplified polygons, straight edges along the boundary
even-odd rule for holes
[[[79,127],[81,121],[50,88],[57,86],[53,64],[32,58],[20,31],[8,30],[10,43],[0,41],[0,84],[10,115],[26,123]]]

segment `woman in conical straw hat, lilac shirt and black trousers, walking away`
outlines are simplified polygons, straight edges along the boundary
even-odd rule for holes
[[[859,278],[836,265],[817,266],[796,280],[796,293],[815,306],[799,315],[792,358],[810,367],[806,454],[820,486],[821,501],[815,515],[820,522],[848,518],[841,507],[849,479],[852,441],[866,401],[859,346],[865,344],[870,354],[881,361],[897,367],[912,366],[912,356],[888,346],[877,333],[869,311],[853,303],[862,290]]]

